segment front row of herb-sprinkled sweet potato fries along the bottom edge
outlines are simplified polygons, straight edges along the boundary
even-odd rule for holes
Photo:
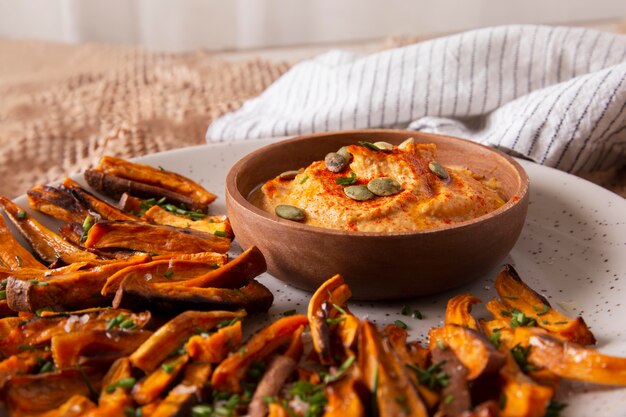
[[[557,416],[561,379],[626,385],[626,359],[585,346],[507,266],[492,320],[449,300],[428,346],[350,313],[341,276],[242,342],[245,311],[90,309],[0,320],[0,387],[12,416]],[[156,330],[149,330],[156,329]]]

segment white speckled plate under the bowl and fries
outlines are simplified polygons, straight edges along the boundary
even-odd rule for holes
[[[272,141],[275,139],[184,148],[139,161],[197,180],[219,195],[213,213],[225,213],[226,173],[239,158]],[[530,206],[522,235],[504,262],[513,264],[554,307],[570,315],[582,315],[596,335],[600,351],[626,357],[626,200],[578,177],[520,162],[531,179]],[[16,202],[27,206],[25,197]],[[42,219],[39,214],[35,216]],[[349,251],[346,256],[350,256]],[[380,325],[403,320],[413,337],[423,340],[430,327],[442,323],[451,296],[469,292],[483,301],[493,297],[492,284],[498,272],[494,270],[471,285],[438,296],[397,303],[354,302],[350,307],[355,314],[368,316]],[[264,274],[261,282],[272,290],[275,302],[270,314],[257,317],[252,326],[269,322],[287,310],[306,311],[308,293],[269,274]],[[404,305],[419,309],[424,319],[402,316]],[[476,312],[484,314],[484,309],[477,308]],[[626,415],[625,388],[565,384],[559,399],[569,404],[562,416]]]

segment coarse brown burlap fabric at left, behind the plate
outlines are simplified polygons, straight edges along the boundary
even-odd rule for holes
[[[83,171],[103,154],[204,143],[213,118],[288,67],[203,51],[0,39],[0,195]]]

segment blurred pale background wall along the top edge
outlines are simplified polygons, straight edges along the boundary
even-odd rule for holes
[[[231,50],[624,16],[625,0],[0,0],[0,36]]]

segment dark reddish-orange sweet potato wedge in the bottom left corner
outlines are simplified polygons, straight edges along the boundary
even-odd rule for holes
[[[88,398],[100,391],[103,375],[96,369],[68,369],[17,376],[6,384],[5,404],[15,416],[53,410],[75,395]]]

